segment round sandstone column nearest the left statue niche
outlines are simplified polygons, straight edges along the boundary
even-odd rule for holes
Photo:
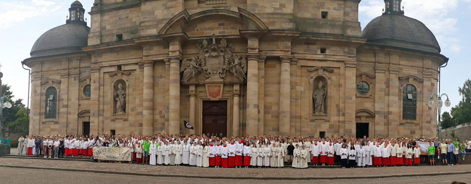
[[[146,60],[142,62],[144,64],[144,78],[143,78],[143,89],[142,89],[142,134],[153,135],[153,96],[154,96],[154,82],[153,82],[153,71],[154,62],[153,60]]]

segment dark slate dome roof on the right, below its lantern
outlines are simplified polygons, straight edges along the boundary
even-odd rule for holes
[[[402,14],[384,14],[364,29],[367,43],[440,53],[437,39],[421,21]]]

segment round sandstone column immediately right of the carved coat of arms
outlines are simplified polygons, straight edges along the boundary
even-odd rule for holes
[[[258,54],[247,55],[247,135],[258,135]]]

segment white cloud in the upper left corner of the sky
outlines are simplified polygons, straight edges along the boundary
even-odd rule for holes
[[[54,1],[32,0],[0,2],[0,30],[26,19],[49,14],[61,7]]]

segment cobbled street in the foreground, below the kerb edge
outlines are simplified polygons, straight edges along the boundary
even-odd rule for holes
[[[179,177],[132,176],[122,174],[50,171],[44,169],[24,169],[0,167],[2,183],[451,183],[453,181],[471,183],[471,174],[451,174],[444,176],[414,176],[394,178],[363,178],[338,180],[241,180],[241,179],[201,179]],[[65,176],[65,177],[64,177]]]

